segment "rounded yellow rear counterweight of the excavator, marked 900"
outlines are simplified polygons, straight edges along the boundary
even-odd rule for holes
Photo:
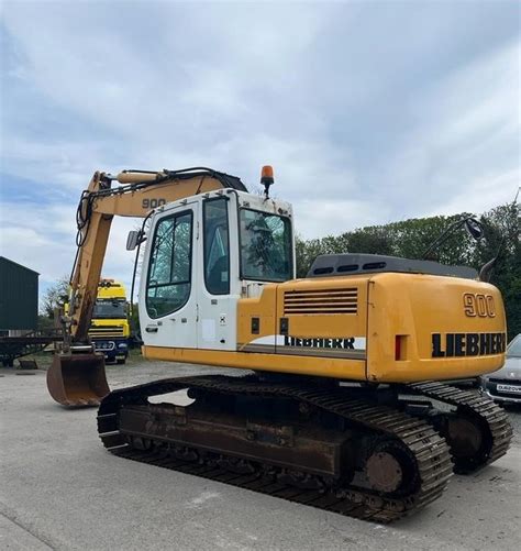
[[[468,317],[464,295],[494,298],[496,316]],[[473,377],[490,373],[505,354],[431,357],[432,333],[505,332],[501,295],[492,285],[431,275],[378,274],[370,278],[367,378],[407,382]],[[395,337],[407,335],[406,357],[395,361]]]

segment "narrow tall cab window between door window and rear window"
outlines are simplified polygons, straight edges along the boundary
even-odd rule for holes
[[[204,283],[212,295],[230,294],[230,239],[228,199],[203,202]]]

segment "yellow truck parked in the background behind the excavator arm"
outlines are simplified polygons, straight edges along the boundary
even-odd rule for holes
[[[89,337],[107,361],[124,364],[129,355],[130,326],[126,293],[122,283],[100,279]]]

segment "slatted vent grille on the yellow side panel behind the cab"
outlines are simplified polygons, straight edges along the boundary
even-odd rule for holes
[[[357,313],[358,289],[287,290],[284,313]]]

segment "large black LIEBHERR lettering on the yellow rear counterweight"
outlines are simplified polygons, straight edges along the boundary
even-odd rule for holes
[[[502,354],[506,333],[432,333],[432,357]]]

